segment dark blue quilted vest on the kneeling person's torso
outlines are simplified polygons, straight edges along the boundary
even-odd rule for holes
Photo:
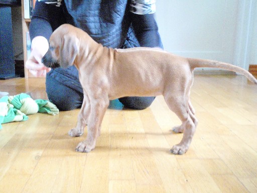
[[[67,23],[86,31],[104,46],[112,48],[121,48],[123,45],[139,46],[130,28],[127,0],[65,0],[64,14]]]

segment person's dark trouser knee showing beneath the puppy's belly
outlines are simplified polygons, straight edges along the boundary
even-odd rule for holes
[[[127,96],[118,99],[120,103],[126,108],[143,110],[148,108],[154,101],[155,96],[139,97],[139,96]]]

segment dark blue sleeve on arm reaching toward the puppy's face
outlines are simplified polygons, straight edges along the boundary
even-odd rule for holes
[[[46,2],[48,1],[36,2],[30,23],[31,40],[36,36],[43,36],[49,40],[53,31],[64,23],[62,6]]]

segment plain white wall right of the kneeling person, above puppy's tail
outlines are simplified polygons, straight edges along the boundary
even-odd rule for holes
[[[185,57],[235,63],[241,4],[241,0],[156,1],[156,20],[164,49]],[[255,22],[255,32],[252,34],[255,38],[256,28]],[[251,46],[255,48],[255,51],[252,49],[252,59],[256,57],[254,46],[256,44]],[[240,55],[238,57],[241,58]],[[240,66],[241,63],[239,61],[236,65]]]

